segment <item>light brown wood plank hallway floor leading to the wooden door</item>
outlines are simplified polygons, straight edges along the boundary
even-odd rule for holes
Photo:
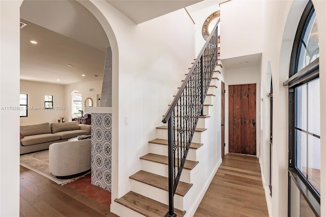
[[[258,158],[225,155],[194,216],[268,216]]]

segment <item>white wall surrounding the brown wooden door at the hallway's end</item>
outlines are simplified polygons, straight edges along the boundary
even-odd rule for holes
[[[229,153],[229,86],[256,84],[256,153],[260,154],[260,66],[224,69],[225,77],[225,149]]]

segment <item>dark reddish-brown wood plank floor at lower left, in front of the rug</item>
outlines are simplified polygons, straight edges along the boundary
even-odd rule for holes
[[[20,217],[117,216],[110,207],[20,166]]]

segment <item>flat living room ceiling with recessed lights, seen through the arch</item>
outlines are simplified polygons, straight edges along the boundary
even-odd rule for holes
[[[20,30],[21,79],[66,85],[103,78],[104,51],[21,21],[28,24]],[[32,44],[31,40],[38,44]]]

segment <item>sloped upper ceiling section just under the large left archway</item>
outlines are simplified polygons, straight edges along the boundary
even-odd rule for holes
[[[110,46],[101,24],[77,1],[24,0],[20,18],[102,51]]]

